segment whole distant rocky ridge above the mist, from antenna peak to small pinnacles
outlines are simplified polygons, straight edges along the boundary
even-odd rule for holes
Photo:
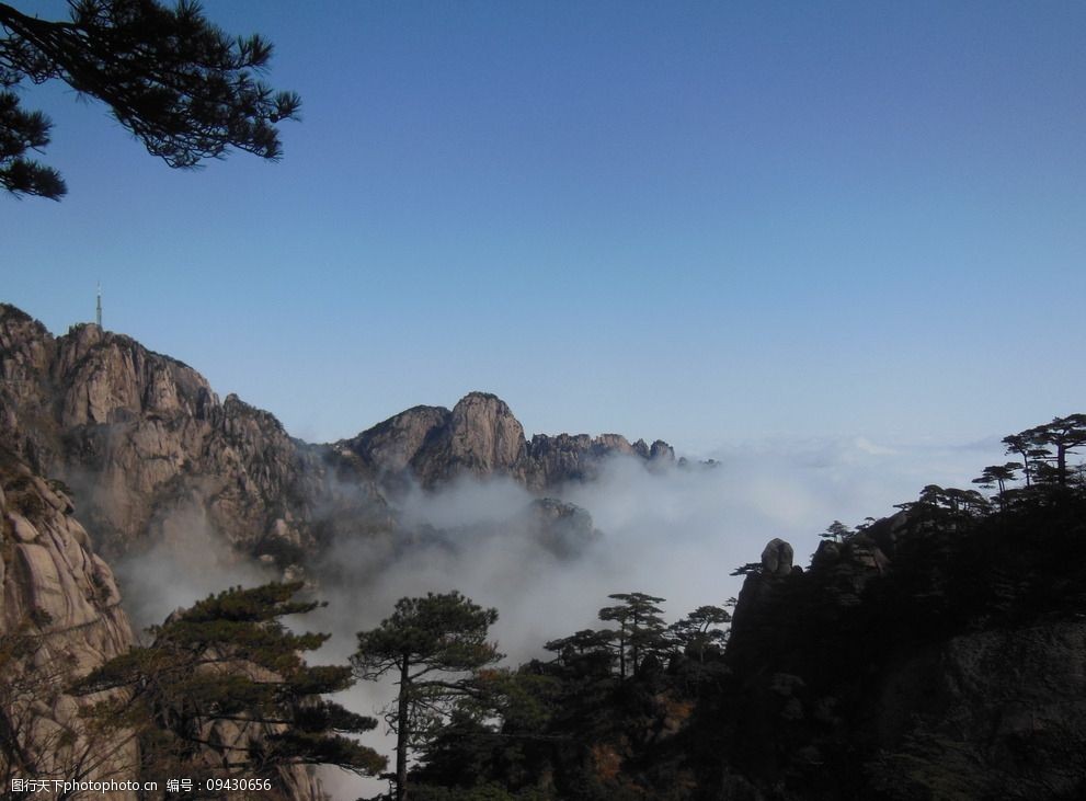
[[[41,476],[62,480],[107,558],[163,536],[183,513],[242,552],[297,554],[338,531],[396,528],[395,495],[460,476],[505,477],[537,494],[591,480],[626,455],[674,460],[663,442],[605,434],[530,440],[500,398],[415,407],[333,445],[290,437],[195,369],[95,324],[54,336],[0,304],[0,436]],[[289,561],[289,560],[287,560]]]

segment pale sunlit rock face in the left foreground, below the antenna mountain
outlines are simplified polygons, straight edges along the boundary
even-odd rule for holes
[[[0,777],[125,780],[137,763],[130,740],[99,739],[80,718],[104,695],[68,691],[133,642],[113,573],[72,511],[58,484],[0,453]]]

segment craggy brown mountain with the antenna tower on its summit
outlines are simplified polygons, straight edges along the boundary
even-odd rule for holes
[[[93,324],[54,337],[10,306],[0,306],[0,433],[71,488],[107,557],[156,538],[181,499],[226,541],[272,554],[312,548],[321,515],[344,502],[356,516],[381,505],[367,482],[333,488],[325,449],[236,396],[220,402],[181,362]]]

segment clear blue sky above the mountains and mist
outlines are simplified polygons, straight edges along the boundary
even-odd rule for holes
[[[311,440],[475,389],[686,453],[1086,409],[1086,3],[205,8],[304,119],[175,172],[23,90],[69,195],[0,196],[0,299],[57,333],[101,281]]]

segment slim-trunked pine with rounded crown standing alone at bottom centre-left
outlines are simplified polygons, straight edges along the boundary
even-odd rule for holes
[[[386,716],[396,733],[396,798],[408,797],[408,749],[437,733],[454,705],[479,693],[479,670],[502,659],[487,641],[496,609],[483,609],[458,592],[401,598],[380,626],[358,632],[351,657],[361,678],[392,673],[397,700]]]

